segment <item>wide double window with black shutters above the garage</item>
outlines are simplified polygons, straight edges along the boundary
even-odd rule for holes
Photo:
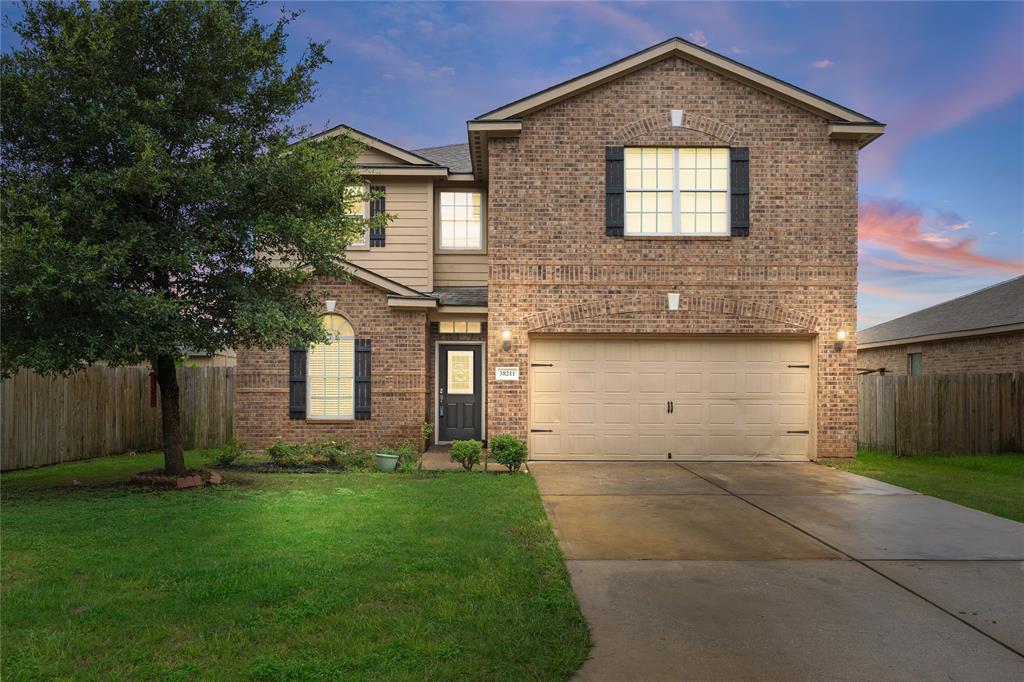
[[[627,147],[626,235],[729,235],[729,150]]]

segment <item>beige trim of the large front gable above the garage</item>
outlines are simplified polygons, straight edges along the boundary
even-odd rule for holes
[[[540,92],[535,92],[531,95],[509,102],[504,106],[499,106],[486,114],[481,114],[473,120],[495,121],[515,119],[672,56],[680,56],[759,90],[774,94],[791,103],[818,114],[828,121],[882,125],[874,119],[855,112],[852,109],[838,104],[830,99],[825,99],[792,83],[786,83],[774,76],[769,76],[757,69],[739,63],[724,54],[713,52],[678,37],[670,38],[657,45],[652,45],[647,49],[623,57],[617,61],[612,61],[607,66],[595,69],[582,76],[577,76]]]

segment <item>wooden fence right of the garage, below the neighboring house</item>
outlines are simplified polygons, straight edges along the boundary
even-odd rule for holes
[[[860,377],[857,440],[895,455],[1024,452],[1024,375]]]

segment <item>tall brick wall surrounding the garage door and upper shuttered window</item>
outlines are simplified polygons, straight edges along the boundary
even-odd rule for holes
[[[663,127],[681,109],[689,128]],[[527,429],[532,333],[818,335],[817,456],[856,452],[857,150],[770,95],[667,59],[523,118],[489,142],[488,432]],[[735,145],[751,152],[751,235],[604,235],[604,147]],[[665,309],[665,293],[684,296]],[[511,351],[501,333],[513,333]],[[522,379],[496,382],[518,365]]]

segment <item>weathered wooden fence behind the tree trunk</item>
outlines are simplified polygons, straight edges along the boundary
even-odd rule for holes
[[[230,439],[234,368],[181,368],[178,383],[185,447]],[[0,470],[159,450],[160,398],[151,407],[150,391],[150,371],[140,368],[18,372],[0,389]]]

